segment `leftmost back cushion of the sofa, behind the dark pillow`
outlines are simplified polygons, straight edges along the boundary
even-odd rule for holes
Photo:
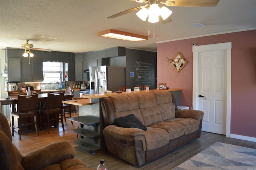
[[[136,118],[138,118],[138,120],[144,124],[139,109],[138,99],[135,95],[117,95],[110,97],[110,99],[112,100],[115,108],[116,118],[134,114],[134,116],[136,116]]]

